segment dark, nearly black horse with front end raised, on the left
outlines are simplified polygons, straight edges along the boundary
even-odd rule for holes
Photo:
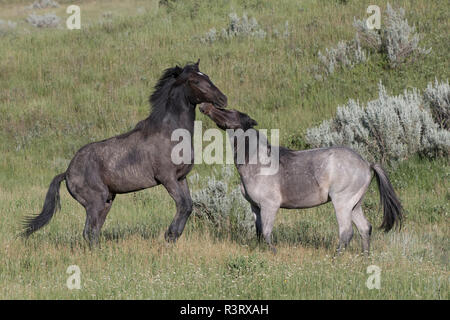
[[[165,233],[167,241],[175,241],[192,211],[186,175],[194,162],[172,163],[171,151],[177,143],[171,141],[172,131],[183,128],[192,137],[197,104],[227,105],[227,97],[199,71],[199,61],[164,72],[150,97],[153,106],[150,116],[133,130],[82,147],[66,172],[51,182],[42,212],[25,220],[23,234],[29,236],[50,221],[59,208],[59,187],[63,180],[72,197],[86,209],[83,237],[91,245],[98,243],[116,194],[162,184],[176,203],[175,218]]]

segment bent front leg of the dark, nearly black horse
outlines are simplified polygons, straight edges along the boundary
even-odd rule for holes
[[[166,241],[176,241],[183,233],[186,221],[192,212],[192,199],[186,179],[163,182],[167,192],[177,206],[177,212],[165,233]]]

